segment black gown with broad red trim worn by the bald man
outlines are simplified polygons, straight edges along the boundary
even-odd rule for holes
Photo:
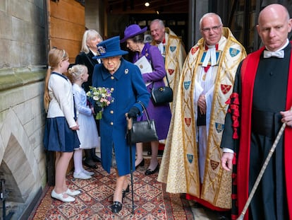
[[[232,219],[241,214],[281,128],[279,112],[290,109],[292,104],[291,44],[284,49],[284,59],[263,58],[263,50],[249,54],[245,63],[238,66],[221,141],[221,148],[233,149],[236,153]],[[277,144],[245,219],[289,219],[288,210],[290,214],[292,211],[291,199],[287,201],[292,187],[292,162],[288,163],[292,157],[291,130],[286,127]]]

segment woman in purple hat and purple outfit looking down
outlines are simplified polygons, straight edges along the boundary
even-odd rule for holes
[[[159,52],[158,47],[150,45],[148,42],[144,42],[144,33],[146,28],[140,28],[139,25],[133,24],[126,28],[124,31],[124,37],[121,42],[126,42],[128,49],[135,52],[133,57],[133,63],[139,62],[141,59],[146,58],[152,66],[152,71],[142,72],[142,79],[147,86],[147,91],[151,93],[152,88],[165,86],[164,76],[166,76],[166,70],[164,67],[164,58]],[[154,83],[152,83],[154,82]],[[149,102],[147,111],[151,119],[154,119],[157,125],[157,136],[159,140],[166,139],[169,132],[169,124],[171,121],[171,110],[169,104],[157,105]],[[142,115],[142,120],[146,120],[145,114]],[[159,170],[159,163],[157,160],[159,141],[151,142],[151,161],[150,166],[145,171],[145,175],[152,175]],[[144,158],[142,156],[142,143],[136,145],[137,159],[135,161],[135,167],[144,166]]]

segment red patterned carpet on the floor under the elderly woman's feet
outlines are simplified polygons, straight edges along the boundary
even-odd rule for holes
[[[71,189],[81,190],[75,202],[63,203],[51,198],[53,187],[46,187],[30,219],[195,219],[185,195],[165,192],[165,185],[157,182],[157,175],[145,175],[149,160],[144,168],[133,173],[134,209],[132,214],[130,193],[123,199],[123,209],[118,214],[111,212],[112,195],[115,187],[115,169],[111,174],[99,166],[90,180],[73,178],[68,173],[67,180]],[[130,183],[130,175],[129,175]]]

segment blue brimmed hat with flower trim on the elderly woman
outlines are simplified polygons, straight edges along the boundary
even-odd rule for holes
[[[92,59],[116,57],[124,54],[128,54],[128,51],[121,50],[120,36],[116,36],[99,42],[99,44],[97,45],[97,55],[95,57],[92,57]]]

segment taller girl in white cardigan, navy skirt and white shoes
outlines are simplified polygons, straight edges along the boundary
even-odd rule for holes
[[[47,119],[44,127],[44,149],[54,151],[55,186],[51,197],[62,202],[73,202],[73,196],[79,190],[70,190],[66,185],[66,171],[73,150],[78,149],[80,141],[76,130],[72,84],[66,76],[69,66],[68,54],[65,50],[53,48],[49,51],[49,67],[44,85],[44,108]]]

